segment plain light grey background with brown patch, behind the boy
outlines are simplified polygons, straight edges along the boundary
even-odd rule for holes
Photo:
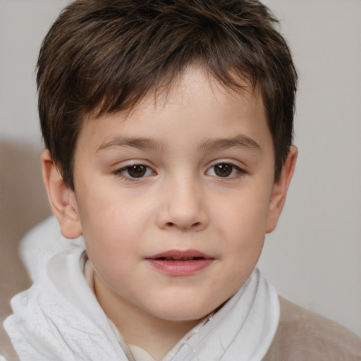
[[[361,1],[265,3],[281,19],[300,72],[300,154],[285,210],[259,265],[281,295],[361,336]],[[16,252],[6,240],[20,239],[49,214],[39,183],[34,69],[40,42],[65,4],[0,0],[3,254],[11,247]],[[2,279],[6,272],[3,267]]]

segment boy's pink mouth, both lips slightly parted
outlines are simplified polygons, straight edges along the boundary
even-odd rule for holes
[[[146,257],[145,260],[163,274],[191,276],[209,267],[215,259],[197,250],[170,250]]]

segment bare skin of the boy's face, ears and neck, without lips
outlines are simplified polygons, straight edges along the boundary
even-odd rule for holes
[[[42,166],[61,232],[84,235],[99,304],[128,343],[161,359],[250,276],[281,214],[296,156],[290,147],[275,183],[259,92],[246,85],[232,93],[191,66],[168,94],[85,121],[75,191],[47,150]],[[132,178],[129,167],[140,164],[145,173]],[[168,250],[198,250],[212,261],[172,276],[146,259]]]

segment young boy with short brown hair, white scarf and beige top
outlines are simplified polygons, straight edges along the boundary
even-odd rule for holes
[[[22,360],[360,359],[338,326],[279,316],[255,269],[297,157],[275,22],[240,0],[75,1],[56,20],[42,166],[75,241],[32,235],[35,284],[6,322]]]

